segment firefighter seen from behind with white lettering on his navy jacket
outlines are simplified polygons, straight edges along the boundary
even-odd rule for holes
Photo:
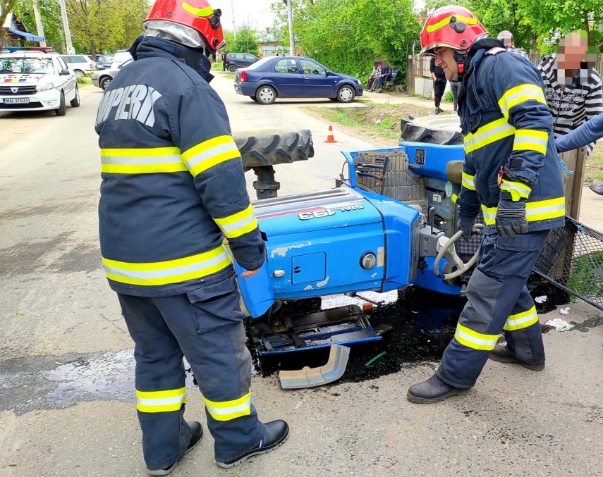
[[[236,274],[265,248],[208,55],[224,44],[205,0],[155,2],[99,105],[99,233],[109,285],[135,342],[142,447],[152,476],[169,474],[199,442],[183,419],[183,356],[193,368],[217,464],[231,467],[281,445],[286,422],[257,418],[250,394]]]

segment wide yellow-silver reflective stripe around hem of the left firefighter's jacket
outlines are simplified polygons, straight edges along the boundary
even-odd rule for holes
[[[183,259],[130,264],[102,259],[107,278],[129,285],[155,286],[181,283],[217,273],[231,264],[224,245]]]

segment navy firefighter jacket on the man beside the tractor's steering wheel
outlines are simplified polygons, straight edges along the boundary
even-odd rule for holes
[[[499,194],[525,200],[530,231],[564,225],[564,187],[540,73],[494,39],[475,42],[459,92],[465,135],[458,204],[495,223]],[[466,62],[465,62],[466,64]]]

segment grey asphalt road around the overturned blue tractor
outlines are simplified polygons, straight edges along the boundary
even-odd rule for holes
[[[260,106],[234,94],[231,80],[217,78],[214,87],[235,132],[312,130],[316,156],[279,166],[281,193],[332,187],[339,149],[370,147],[338,128],[339,143],[324,144],[328,125],[300,110],[309,101]],[[132,342],[97,244],[100,97],[83,89],[82,106],[62,118],[0,114],[2,475],[145,475]],[[589,198],[589,211],[600,210],[597,198]],[[593,216],[600,222],[600,212]],[[552,311],[540,319],[557,317],[578,326],[544,335],[544,371],[489,362],[469,395],[432,406],[405,395],[436,361],[310,390],[284,391],[276,375],[256,377],[260,418],[291,424],[286,445],[223,471],[207,434],[173,475],[603,475],[603,318],[571,304],[569,316]],[[200,395],[188,395],[188,419],[204,421]]]

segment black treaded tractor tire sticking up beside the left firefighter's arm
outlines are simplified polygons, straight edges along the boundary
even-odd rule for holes
[[[309,130],[238,132],[234,139],[245,171],[254,167],[306,161],[314,156],[312,132]]]

